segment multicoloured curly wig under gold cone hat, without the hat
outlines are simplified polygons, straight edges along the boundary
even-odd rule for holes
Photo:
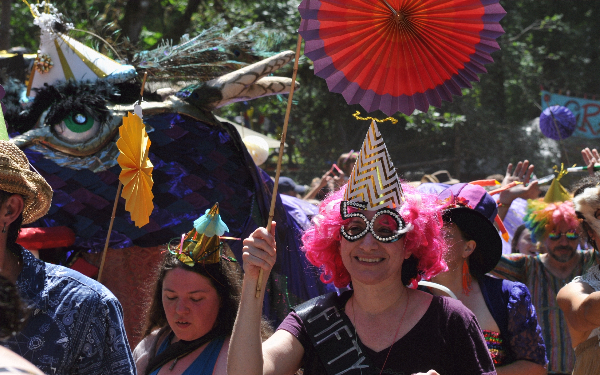
[[[544,238],[556,229],[560,223],[566,223],[569,227],[576,228],[580,220],[577,218],[573,202],[546,203],[542,198],[527,201],[527,214],[523,218],[527,229],[531,231],[533,243],[544,240]]]

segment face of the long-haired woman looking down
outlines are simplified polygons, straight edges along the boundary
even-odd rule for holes
[[[163,308],[169,326],[181,340],[196,340],[217,322],[220,307],[217,290],[208,278],[175,268],[163,281]]]

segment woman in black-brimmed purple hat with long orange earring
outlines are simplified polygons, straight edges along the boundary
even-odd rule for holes
[[[454,185],[440,197],[450,202],[443,215],[449,270],[432,281],[448,287],[475,314],[499,375],[547,373],[544,338],[529,290],[485,275],[502,256],[502,240],[492,224],[496,202],[470,184]]]

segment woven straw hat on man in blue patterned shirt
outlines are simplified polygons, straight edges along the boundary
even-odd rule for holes
[[[0,140],[0,190],[23,196],[23,224],[33,223],[50,209],[52,188],[29,170],[23,151],[7,140]]]

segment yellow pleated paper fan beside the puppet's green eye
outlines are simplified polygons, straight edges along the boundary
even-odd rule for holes
[[[149,223],[150,214],[154,209],[152,199],[152,163],[148,159],[150,140],[146,126],[139,116],[127,113],[123,117],[123,125],[119,127],[116,146],[121,151],[117,158],[121,166],[119,181],[123,184],[122,197],[125,198],[125,209],[131,213],[131,220],[137,227]]]

